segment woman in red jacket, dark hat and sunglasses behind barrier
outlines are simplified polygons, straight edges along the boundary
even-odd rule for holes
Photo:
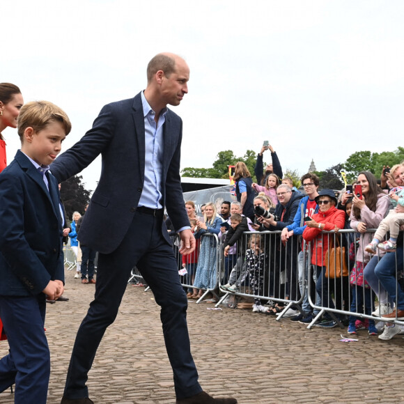
[[[314,214],[312,220],[306,222],[303,238],[306,242],[311,241],[311,263],[317,271],[316,291],[321,297],[323,307],[334,309],[331,295],[328,290],[328,279],[325,277],[325,253],[329,249],[329,234],[323,231],[339,231],[345,225],[345,212],[336,209],[337,199],[332,189],[323,189],[316,197],[318,213]],[[335,327],[336,322],[329,316],[325,316],[322,327]]]

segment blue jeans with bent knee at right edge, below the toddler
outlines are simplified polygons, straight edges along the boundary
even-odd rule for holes
[[[375,267],[376,277],[389,293],[391,299],[396,302],[398,310],[404,310],[404,292],[396,279],[396,265],[398,271],[403,271],[403,247],[397,247],[397,251],[387,253]]]

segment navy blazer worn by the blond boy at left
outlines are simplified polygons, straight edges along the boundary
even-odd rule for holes
[[[0,173],[0,295],[37,295],[64,281],[58,182],[20,150]]]

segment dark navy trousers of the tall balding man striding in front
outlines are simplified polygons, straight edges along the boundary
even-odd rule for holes
[[[162,308],[160,316],[177,398],[202,390],[189,345],[187,297],[180,284],[173,249],[162,235],[162,211],[157,217],[137,211],[116,251],[98,256],[95,299],[77,332],[66,380],[66,398],[88,397],[87,373],[105,329],[116,318],[135,265]]]

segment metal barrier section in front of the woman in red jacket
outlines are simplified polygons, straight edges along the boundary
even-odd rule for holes
[[[323,231],[320,238],[309,242],[308,254],[305,254],[305,259],[309,261],[308,277],[306,278],[306,293],[309,297],[309,303],[313,308],[313,320],[307,328],[311,328],[322,316],[327,313],[336,323],[342,328],[344,327],[341,319],[343,316],[353,316],[357,319],[368,319],[389,323],[397,323],[404,325],[401,320],[387,320],[382,318],[382,313],[375,309],[375,300],[379,300],[380,293],[384,293],[383,300],[391,300],[391,297],[385,293],[380,281],[377,281],[378,286],[375,290],[372,290],[370,286],[366,284],[363,275],[363,267],[361,268],[360,262],[368,265],[373,256],[369,256],[364,247],[373,238],[375,229],[368,229],[365,233],[360,235],[358,240],[357,235],[353,230],[340,230],[338,233],[334,231]],[[331,240],[327,240],[330,238]],[[331,248],[338,246],[345,248],[345,251],[341,248],[338,254],[332,254]],[[359,243],[362,245],[362,254],[358,256]],[[328,250],[328,254],[325,255]],[[323,263],[324,266],[319,265],[319,259],[314,259],[313,255],[325,256]],[[387,253],[396,254],[396,253]],[[375,260],[382,258],[380,251],[375,255]],[[343,262],[345,261],[347,272],[343,274]],[[359,265],[357,265],[359,261]],[[395,272],[395,278],[398,280],[402,278],[403,268],[399,268],[397,265],[397,259],[395,260],[395,268],[391,268],[392,272]],[[330,264],[334,264],[336,272],[339,271],[340,277],[327,276],[326,267]],[[363,265],[366,268],[366,265]],[[344,276],[345,275],[345,276]],[[313,279],[314,283],[311,281]],[[396,282],[396,290],[400,286]],[[397,296],[397,293],[396,293]],[[396,301],[391,302],[391,309],[397,307]],[[380,307],[380,304],[379,304]],[[372,314],[373,313],[373,314]]]

